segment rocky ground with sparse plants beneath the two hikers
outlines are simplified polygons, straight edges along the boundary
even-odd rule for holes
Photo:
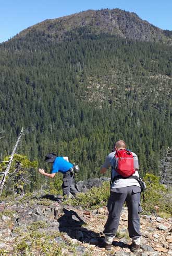
[[[30,231],[50,235],[56,232],[55,237],[49,237],[49,244],[57,243],[59,247],[61,244],[56,255],[136,255],[128,247],[131,240],[128,237],[125,207],[112,251],[101,248],[107,214],[106,207],[85,210],[59,204],[53,196],[29,200],[17,197],[15,202],[0,202],[0,255],[52,255],[40,253],[38,246],[34,247],[32,254],[22,253],[24,249],[19,246],[20,241]],[[141,232],[141,248],[137,255],[172,255],[172,218],[164,219],[157,214],[141,215]],[[27,243],[31,244],[29,239]],[[75,247],[75,252],[71,247]]]

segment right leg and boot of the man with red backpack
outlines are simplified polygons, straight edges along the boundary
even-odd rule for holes
[[[140,188],[137,186],[128,187],[128,196],[126,198],[126,204],[128,207],[128,232],[129,237],[134,243],[135,249],[138,250],[140,246]],[[135,246],[137,245],[137,246]]]

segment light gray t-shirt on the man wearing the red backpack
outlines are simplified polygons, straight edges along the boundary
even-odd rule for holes
[[[106,160],[105,160],[104,164],[102,165],[102,167],[108,169],[109,167],[112,167],[114,165],[115,153],[116,153],[116,151],[107,155]],[[133,153],[133,152],[131,152],[131,153],[132,153],[133,159],[134,159],[134,169],[139,169],[138,157],[135,153]],[[115,171],[113,168],[112,169],[112,179],[117,175],[119,175],[119,173],[117,173],[117,171]],[[139,177],[138,171],[136,171],[132,175]],[[128,186],[139,186],[140,187],[139,182],[135,179],[119,179],[112,183],[111,191],[115,192],[116,188],[128,187]]]

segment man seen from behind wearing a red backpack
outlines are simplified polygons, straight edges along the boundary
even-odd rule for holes
[[[106,250],[111,250],[113,238],[116,235],[119,225],[121,209],[126,202],[128,207],[128,232],[129,237],[132,239],[130,250],[132,252],[137,252],[140,247],[141,237],[139,217],[139,213],[142,212],[140,206],[141,188],[137,179],[132,178],[132,176],[139,177],[139,173],[137,171],[139,170],[139,164],[137,155],[131,151],[127,151],[126,147],[124,140],[117,141],[115,143],[114,151],[107,155],[100,171],[103,174],[110,166],[112,167],[112,182],[110,186],[110,196],[107,203],[109,214],[103,231],[105,234],[104,247]],[[126,152],[129,157],[131,155],[133,174],[131,174],[130,177],[123,177],[117,172],[119,162],[116,162],[118,160],[115,159],[115,156],[119,151]],[[128,169],[130,169],[130,167]]]

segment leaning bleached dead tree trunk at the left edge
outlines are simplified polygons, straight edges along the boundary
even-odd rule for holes
[[[2,192],[3,192],[3,187],[4,187],[4,184],[5,184],[5,182],[6,182],[6,177],[7,177],[8,173],[9,173],[11,164],[13,163],[13,158],[14,158],[14,155],[15,155],[15,153],[16,153],[16,149],[17,149],[17,146],[18,146],[18,144],[19,144],[19,141],[20,141],[20,138],[21,138],[22,135],[23,135],[23,127],[22,127],[22,129],[21,129],[21,131],[20,131],[19,137],[18,137],[18,139],[17,139],[17,142],[16,142],[16,144],[15,144],[15,147],[14,147],[14,149],[13,149],[13,152],[11,153],[11,156],[10,156],[10,158],[9,158],[9,161],[7,162],[7,163],[8,163],[7,168],[6,168],[6,170],[1,174],[3,177],[2,177],[2,180],[1,180],[1,183],[0,183],[0,196],[1,196]],[[9,174],[10,174],[10,173],[9,173]]]

